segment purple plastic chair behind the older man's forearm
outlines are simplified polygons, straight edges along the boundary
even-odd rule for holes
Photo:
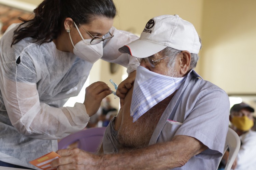
[[[106,127],[89,128],[72,133],[58,142],[58,149],[66,149],[74,142],[78,142],[77,148],[87,152],[96,152],[101,144]]]

